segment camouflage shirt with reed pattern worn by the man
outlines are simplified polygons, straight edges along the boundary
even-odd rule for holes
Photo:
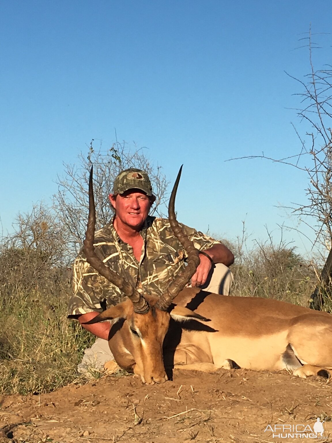
[[[197,249],[205,250],[219,241],[181,225]],[[169,282],[185,266],[186,254],[164,218],[147,217],[141,231],[143,247],[140,261],[133,249],[116,233],[113,222],[95,233],[96,253],[114,272],[129,280],[138,291],[161,296]],[[100,276],[79,253],[73,266],[73,296],[69,318],[91,311],[102,311],[124,299],[120,289]]]

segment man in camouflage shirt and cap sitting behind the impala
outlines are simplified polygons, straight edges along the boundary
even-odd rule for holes
[[[116,177],[109,200],[115,209],[113,220],[95,233],[94,245],[100,258],[114,272],[125,277],[145,294],[161,296],[170,281],[185,266],[185,253],[167,219],[149,216],[154,203],[147,173],[127,169]],[[232,252],[219,241],[182,225],[189,239],[200,250],[200,264],[191,279],[192,286],[228,295],[234,262]],[[89,366],[102,369],[112,359],[108,349],[110,323],[85,325],[101,311],[119,303],[119,288],[100,276],[85,260],[81,251],[73,268],[73,296],[69,301],[69,318],[97,336],[91,349],[85,351],[78,370]]]

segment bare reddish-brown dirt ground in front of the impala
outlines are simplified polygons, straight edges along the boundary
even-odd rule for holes
[[[107,376],[49,394],[2,396],[0,405],[1,443],[332,442],[332,382],[287,373],[176,370],[161,385]],[[317,417],[328,417],[323,440],[278,437],[280,425],[313,428]],[[278,433],[268,425],[279,425]]]

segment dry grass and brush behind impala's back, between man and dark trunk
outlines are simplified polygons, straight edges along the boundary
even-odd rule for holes
[[[255,242],[251,248],[246,238],[237,239],[232,244],[224,242],[235,254],[232,295],[272,298],[309,306],[321,271],[317,260],[305,260],[295,247],[282,241],[274,245],[270,237],[264,244]],[[330,311],[331,295],[326,294],[325,301],[324,310]]]

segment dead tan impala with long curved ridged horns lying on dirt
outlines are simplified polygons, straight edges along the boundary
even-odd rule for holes
[[[236,365],[254,370],[286,369],[304,378],[329,377],[332,319],[328,313],[273,299],[225,297],[186,287],[199,257],[175,217],[181,168],[170,197],[169,220],[186,251],[187,266],[160,298],[140,294],[96,255],[91,169],[86,260],[120,288],[127,300],[87,324],[110,321],[108,343],[117,364],[147,384],[168,380],[169,369],[178,367],[211,371]]]

